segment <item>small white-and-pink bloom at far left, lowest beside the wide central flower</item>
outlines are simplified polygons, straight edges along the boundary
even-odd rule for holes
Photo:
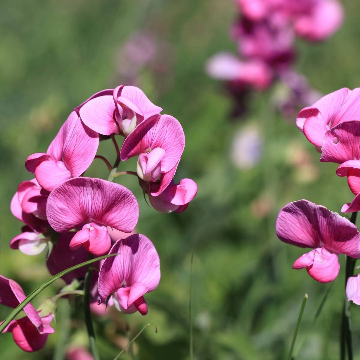
[[[23,226],[22,233],[10,241],[12,249],[19,249],[26,255],[39,255],[48,246],[50,238],[33,231],[29,226]]]

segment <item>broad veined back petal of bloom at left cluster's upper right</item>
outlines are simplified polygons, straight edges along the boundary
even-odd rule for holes
[[[161,172],[168,172],[179,161],[185,147],[185,136],[179,121],[169,115],[155,115],[141,122],[122,144],[121,160],[147,153],[155,148],[165,150]]]

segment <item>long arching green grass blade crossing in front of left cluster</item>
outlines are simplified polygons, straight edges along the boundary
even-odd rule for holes
[[[93,262],[106,259],[107,257],[112,257],[120,255],[118,253],[116,254],[110,254],[110,255],[103,255],[100,257],[97,257],[96,259],[87,260],[85,262],[82,262],[81,264],[69,267],[68,269],[61,271],[60,273],[54,275],[52,278],[50,278],[48,281],[46,281],[44,284],[40,285],[37,289],[35,289],[26,299],[24,299],[10,314],[8,317],[0,324],[0,334],[3,332],[3,330],[10,324],[10,321],[14,320],[15,316],[17,316],[22,309],[31,301],[33,298],[35,298],[38,294],[40,294],[44,289],[46,289],[49,285],[51,285],[54,281],[57,279],[60,279],[63,275],[70,273],[70,271],[79,269],[80,267],[93,264]]]

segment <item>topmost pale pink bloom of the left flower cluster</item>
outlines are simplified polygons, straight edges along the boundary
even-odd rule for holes
[[[162,111],[138,87],[121,85],[108,92],[100,91],[78,107],[81,120],[99,134],[127,136],[144,119]]]

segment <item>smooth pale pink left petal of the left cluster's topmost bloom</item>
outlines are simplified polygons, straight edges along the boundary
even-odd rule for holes
[[[119,134],[114,118],[115,104],[110,95],[89,100],[80,109],[80,117],[90,129],[102,135]]]

